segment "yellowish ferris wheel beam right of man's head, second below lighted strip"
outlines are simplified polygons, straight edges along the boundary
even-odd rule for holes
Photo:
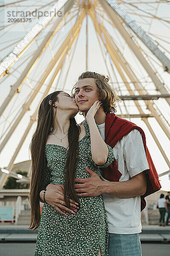
[[[92,18],[92,21],[93,21],[93,24],[95,26],[96,32],[100,36],[101,40],[104,41],[104,43],[105,43],[104,45],[107,49],[107,52],[109,52],[112,60],[115,59],[115,56],[116,56],[116,60],[121,64],[121,66],[123,67],[124,71],[127,73],[127,76],[130,78],[130,80],[131,81],[138,81],[138,78],[133,73],[133,70],[130,68],[127,61],[124,59],[124,57],[121,54],[121,52],[119,51],[118,47],[115,45],[115,43],[113,41],[112,42],[110,41],[109,34],[108,34],[107,30],[105,29],[105,27],[101,23],[100,23],[100,26],[99,26],[99,24],[96,20],[95,13],[90,11],[89,14]],[[117,67],[117,63],[115,62],[114,64]],[[119,73],[120,72],[121,72],[121,69],[119,69]],[[123,76],[123,73],[122,73],[122,76]],[[125,85],[127,86],[128,83],[127,83],[127,80],[125,79],[125,77],[124,77],[123,81],[125,82]],[[136,90],[138,90],[139,95],[141,93],[144,93],[144,90],[143,90],[143,92],[141,92],[141,87],[138,85],[138,84],[140,84],[139,81],[138,81],[138,84],[137,83],[133,83],[133,84],[134,84],[134,87],[136,88]],[[134,94],[132,94],[132,92],[130,92],[130,95],[134,95]],[[153,103],[148,101],[148,100],[145,100],[144,102],[147,105],[147,108],[152,113],[152,115],[156,118],[157,122],[159,123],[159,125],[163,129],[164,133],[170,139],[170,132],[167,129],[167,126],[165,125],[163,120],[160,118],[159,114],[156,112],[156,109],[153,107]]]

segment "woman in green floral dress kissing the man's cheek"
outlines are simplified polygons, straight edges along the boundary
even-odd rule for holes
[[[96,101],[77,125],[78,106],[63,91],[47,95],[40,104],[37,128],[32,137],[32,178],[30,186],[31,224],[38,227],[35,256],[107,256],[108,224],[102,195],[79,197],[75,178],[88,178],[88,166],[99,174],[100,168],[113,160],[112,148],[105,144],[95,113],[101,106]],[[97,145],[97,147],[96,147]],[[39,193],[49,183],[63,184],[64,201],[77,202],[78,211],[67,215],[44,203],[40,215]]]

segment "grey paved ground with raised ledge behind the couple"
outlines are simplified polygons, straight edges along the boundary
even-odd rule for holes
[[[0,224],[0,256],[34,256],[36,239],[28,226]],[[170,256],[170,226],[143,226],[140,239],[142,256]]]

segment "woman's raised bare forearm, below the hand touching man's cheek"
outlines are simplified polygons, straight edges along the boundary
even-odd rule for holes
[[[90,131],[92,160],[97,165],[102,165],[107,161],[109,149],[98,131],[94,117],[89,116],[86,121]]]

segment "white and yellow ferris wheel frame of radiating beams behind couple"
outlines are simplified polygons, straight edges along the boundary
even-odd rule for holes
[[[123,21],[124,24],[126,24],[134,33],[135,35],[141,39],[141,41],[150,49],[150,51],[158,58],[159,61],[164,66],[164,70],[170,73],[170,60],[164,55],[163,52],[158,48],[158,46],[150,39],[150,37],[141,29],[140,26],[138,26],[135,23],[135,20],[133,20],[116,2],[115,0],[98,0],[100,5],[104,8],[105,12],[107,13],[108,17],[112,20],[112,23],[114,26],[118,29],[124,40],[127,42],[129,47],[133,50],[134,54],[138,58],[138,60],[141,62],[142,66],[144,69],[147,71],[148,75],[151,77],[153,80],[153,83],[155,84],[156,89],[163,94],[169,94],[167,89],[164,87],[164,84],[160,81],[156,73],[154,73],[152,67],[150,67],[150,64],[147,62],[147,59],[144,58],[144,55],[142,52],[138,49],[136,46],[135,42],[133,39],[130,37],[128,31],[126,30],[125,26],[122,25]],[[58,2],[49,10],[55,10],[58,11],[64,6],[64,18],[68,15],[69,10],[73,7],[74,3],[76,1],[73,0],[58,0]],[[80,6],[82,4],[82,0],[80,1]],[[85,6],[87,7],[88,1],[85,0]],[[121,70],[121,67],[123,67],[124,72],[127,74],[129,77],[130,81],[138,81],[137,77],[133,73],[133,70],[130,68],[130,66],[127,64],[127,61],[124,59],[123,55],[121,54],[120,50],[118,47],[114,44],[112,41],[111,36],[107,32],[107,29],[103,26],[102,23],[100,23],[99,18],[96,15],[95,11],[95,4],[94,1],[91,0],[92,8],[87,9],[84,8],[84,10],[81,10],[81,13],[78,13],[75,25],[72,27],[72,29],[69,32],[69,35],[66,37],[66,40],[64,41],[63,45],[60,47],[56,55],[54,56],[53,60],[50,62],[49,67],[47,70],[44,72],[41,81],[39,82],[39,85],[36,87],[34,93],[32,93],[32,96],[28,99],[28,101],[23,105],[23,109],[19,116],[17,116],[16,121],[12,125],[12,128],[10,128],[10,131],[7,133],[5,139],[2,141],[0,144],[0,152],[2,151],[3,147],[6,145],[7,141],[9,138],[12,136],[12,133],[14,132],[15,128],[17,127],[18,123],[21,121],[22,117],[24,114],[30,110],[30,105],[32,101],[35,99],[35,96],[39,92],[40,88],[43,86],[44,82],[48,78],[50,72],[53,70],[55,64],[57,61],[60,59],[55,71],[54,75],[52,76],[51,81],[49,82],[49,85],[47,86],[45,92],[43,93],[42,99],[48,94],[50,88],[52,87],[53,81],[55,80],[55,77],[59,73],[59,71],[62,69],[62,64],[65,58],[65,55],[70,51],[73,42],[75,41],[75,38],[78,38],[80,29],[81,29],[81,24],[86,18],[86,69],[87,69],[87,59],[88,59],[88,30],[87,30],[87,22],[88,22],[88,15],[91,17],[96,34],[98,35],[98,38],[101,38],[101,40],[104,43],[104,46],[107,49],[107,52],[109,54],[109,58],[112,59],[115,67],[117,68],[122,80],[126,84],[127,90],[129,91],[130,95],[134,95],[132,90],[130,90],[130,86],[127,83],[127,79],[124,76],[124,73]],[[54,12],[55,15],[55,12]],[[54,17],[53,15],[53,17]],[[52,17],[52,18],[53,18]],[[6,75],[8,73],[8,70],[12,65],[17,61],[18,58],[20,58],[21,55],[26,51],[26,49],[32,44],[32,42],[37,38],[37,36],[40,34],[40,32],[46,27],[46,25],[52,20],[52,18],[43,18],[40,20],[32,29],[31,31],[14,47],[13,51],[0,63],[0,74],[1,76]],[[57,22],[53,25],[53,32],[49,32],[46,37],[44,38],[43,42],[41,43],[38,51],[36,54],[32,57],[32,60],[29,62],[29,65],[25,68],[23,71],[22,75],[18,79],[18,81],[11,87],[11,91],[7,98],[4,100],[3,105],[0,107],[0,115],[3,113],[3,111],[6,109],[6,107],[9,105],[9,102],[12,100],[14,95],[16,93],[20,92],[20,87],[23,85],[24,81],[28,77],[31,69],[35,66],[37,61],[39,60],[41,54],[46,50],[48,47],[50,41],[52,40],[53,36],[55,35],[56,32],[60,29],[62,21],[57,20]],[[70,37],[72,35],[72,37]],[[138,83],[134,83],[134,86],[136,90],[138,91],[139,95],[143,93],[144,95],[147,94],[147,91],[142,87],[140,81]],[[41,99],[41,100],[42,100]],[[166,98],[168,104],[170,105],[170,98]],[[168,138],[170,138],[170,133],[167,127],[166,120],[164,120],[163,115],[160,114],[154,108],[153,102],[149,100],[144,101],[146,103],[147,108],[150,110],[151,116],[154,116],[157,120],[157,122],[161,125],[164,133],[167,135]],[[150,133],[152,134],[159,150],[161,151],[162,156],[164,157],[165,162],[170,168],[170,162],[161,146],[159,143],[156,134],[154,133],[153,129],[151,128],[148,119],[146,115],[144,116],[144,112],[140,105],[135,104],[142,120],[145,122],[147,125],[147,128],[149,129]],[[38,107],[35,111],[35,113],[30,117],[30,123],[23,134],[23,137],[20,140],[20,143],[17,146],[17,149],[6,169],[9,171],[12,170],[14,166],[14,160],[17,157],[18,152],[20,151],[21,146],[23,145],[24,140],[26,139],[27,134],[29,133],[32,125],[34,122],[36,122],[37,119],[37,112],[38,112]],[[143,116],[143,117],[142,117]],[[5,181],[7,179],[8,175],[3,174],[3,177],[0,177],[0,186],[3,186],[5,184]]]

